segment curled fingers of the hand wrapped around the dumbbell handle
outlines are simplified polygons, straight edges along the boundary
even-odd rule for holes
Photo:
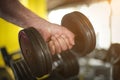
[[[54,35],[49,42],[49,49],[52,54],[61,53],[67,49],[71,49],[72,45],[69,43],[68,38],[65,35]]]

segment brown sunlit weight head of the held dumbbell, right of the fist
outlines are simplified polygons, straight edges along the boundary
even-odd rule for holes
[[[61,25],[75,34],[75,46],[72,51],[84,56],[90,53],[96,44],[95,32],[88,18],[80,12],[66,14]]]

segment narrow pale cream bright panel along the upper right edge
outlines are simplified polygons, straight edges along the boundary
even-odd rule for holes
[[[112,42],[120,43],[120,0],[112,0]]]

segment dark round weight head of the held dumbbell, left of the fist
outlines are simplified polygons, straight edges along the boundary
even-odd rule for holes
[[[31,73],[41,77],[52,70],[52,57],[42,36],[32,27],[19,32],[19,43],[23,57]]]

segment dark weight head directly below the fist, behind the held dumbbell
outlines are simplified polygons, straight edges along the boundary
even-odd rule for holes
[[[61,57],[62,64],[59,66],[58,73],[64,78],[78,75],[80,66],[74,53],[66,51],[64,53],[61,53]]]

